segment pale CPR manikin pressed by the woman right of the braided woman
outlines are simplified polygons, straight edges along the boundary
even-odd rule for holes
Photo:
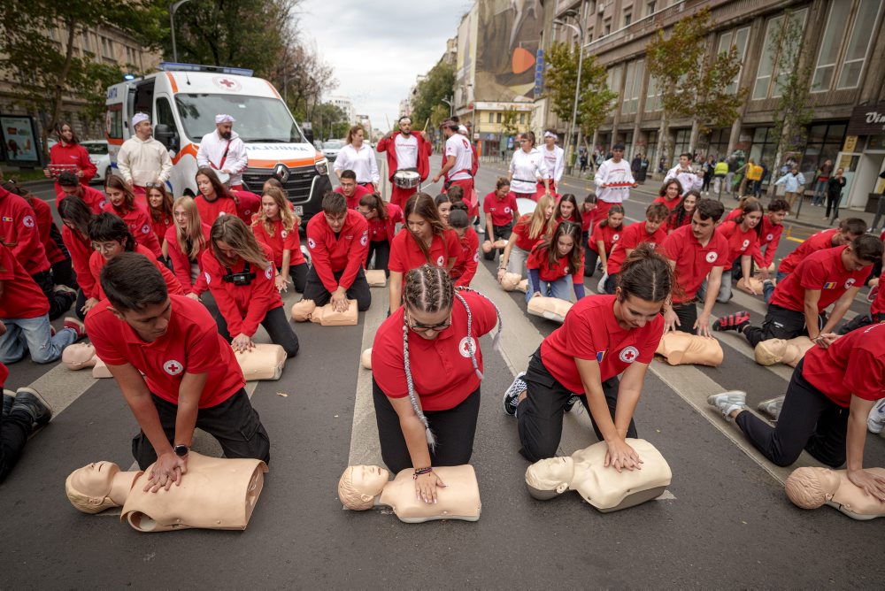
[[[604,441],[578,449],[571,456],[548,457],[528,466],[528,493],[539,501],[576,490],[596,509],[608,513],[627,509],[660,496],[673,477],[658,449],[644,439],[627,439],[643,459],[642,470],[616,471],[604,467]]]

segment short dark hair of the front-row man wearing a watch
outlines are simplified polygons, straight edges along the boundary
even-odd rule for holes
[[[101,283],[104,295],[117,311],[142,311],[169,297],[159,269],[137,252],[123,252],[108,261],[102,269]]]

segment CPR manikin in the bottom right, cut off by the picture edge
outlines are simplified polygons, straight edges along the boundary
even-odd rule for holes
[[[885,468],[865,468],[874,476],[885,478]],[[852,519],[885,516],[885,503],[848,480],[848,472],[827,468],[797,468],[784,483],[789,500],[802,509],[817,509],[827,504]]]

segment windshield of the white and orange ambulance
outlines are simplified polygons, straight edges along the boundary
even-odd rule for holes
[[[243,142],[304,142],[289,109],[277,98],[179,94],[175,95],[175,104],[184,132],[194,142],[215,131],[215,116],[219,113],[236,119],[234,131]]]

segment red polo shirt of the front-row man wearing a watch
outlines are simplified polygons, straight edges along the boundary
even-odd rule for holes
[[[199,408],[218,406],[246,385],[234,349],[219,334],[215,320],[202,303],[184,295],[170,295],[172,315],[166,333],[154,342],[141,337],[108,310],[107,300],[86,317],[89,340],[107,365],[135,366],[144,374],[152,394],[177,404],[185,373],[208,373]]]

